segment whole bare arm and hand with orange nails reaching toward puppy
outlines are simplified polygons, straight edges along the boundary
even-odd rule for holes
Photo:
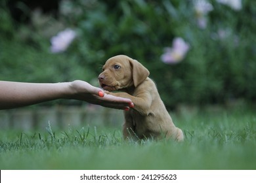
[[[125,109],[131,106],[130,99],[104,94],[100,88],[82,80],[59,83],[27,83],[0,81],[0,109],[33,105],[55,99],[77,99],[103,107]]]

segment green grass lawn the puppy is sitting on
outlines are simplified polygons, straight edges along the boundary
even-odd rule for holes
[[[130,141],[121,127],[0,131],[0,169],[256,169],[253,108],[172,114],[184,142]]]

